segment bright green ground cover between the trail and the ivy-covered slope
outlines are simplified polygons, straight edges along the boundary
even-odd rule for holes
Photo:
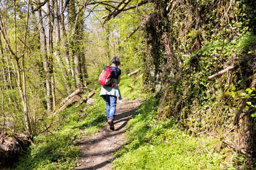
[[[174,120],[158,120],[156,109],[151,99],[129,120],[129,140],[114,169],[222,169],[218,139],[191,137]]]

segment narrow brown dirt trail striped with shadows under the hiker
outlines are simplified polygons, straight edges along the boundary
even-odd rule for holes
[[[78,159],[80,164],[75,169],[111,169],[114,152],[126,142],[124,132],[127,121],[136,111],[142,100],[124,101],[117,103],[117,110],[114,117],[114,131],[110,130],[107,121],[106,127],[92,136],[85,136],[80,141],[82,156]]]

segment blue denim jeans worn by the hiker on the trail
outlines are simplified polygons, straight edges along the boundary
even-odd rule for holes
[[[114,113],[117,106],[117,96],[105,95],[107,119],[114,119]]]

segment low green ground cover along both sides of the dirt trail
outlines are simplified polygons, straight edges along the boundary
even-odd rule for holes
[[[145,98],[146,102],[129,120],[128,142],[116,153],[114,169],[234,169],[235,152],[221,152],[220,140],[193,137],[180,130],[175,120],[162,120],[157,113],[154,95],[141,93],[141,79],[122,77],[120,89],[126,99]],[[50,132],[35,137],[35,145],[20,157],[13,169],[71,169],[80,150],[75,142],[81,133],[92,134],[105,126],[105,103],[99,99],[80,118],[80,108],[71,106],[58,115]],[[137,90],[136,90],[137,89]]]

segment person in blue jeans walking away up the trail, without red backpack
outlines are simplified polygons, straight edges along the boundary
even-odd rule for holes
[[[117,106],[117,97],[122,103],[122,97],[119,91],[119,83],[121,79],[121,69],[118,68],[120,65],[119,57],[113,57],[110,61],[112,74],[111,77],[114,79],[114,86],[102,86],[100,91],[100,96],[106,102],[106,112],[107,112],[107,123],[110,125],[110,130],[114,130],[114,113]],[[103,70],[107,69],[107,66]]]

